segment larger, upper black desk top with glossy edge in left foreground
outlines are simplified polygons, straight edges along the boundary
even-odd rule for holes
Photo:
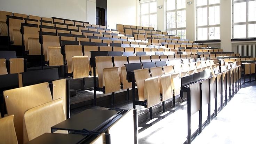
[[[57,125],[51,127],[52,130],[82,130],[98,131],[107,122],[113,119],[119,110],[97,110],[87,109],[79,114],[74,115]]]

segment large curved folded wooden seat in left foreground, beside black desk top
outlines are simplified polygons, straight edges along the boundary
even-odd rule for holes
[[[25,112],[24,122],[29,141],[44,133],[51,133],[52,126],[66,120],[62,101],[60,98]]]

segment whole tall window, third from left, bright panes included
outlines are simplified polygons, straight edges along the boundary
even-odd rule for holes
[[[219,40],[220,0],[197,0],[197,40]]]

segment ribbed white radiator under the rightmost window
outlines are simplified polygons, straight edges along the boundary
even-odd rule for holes
[[[256,45],[237,45],[237,53],[240,56],[256,57]]]

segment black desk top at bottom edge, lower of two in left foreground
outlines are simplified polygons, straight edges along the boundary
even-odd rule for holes
[[[78,134],[52,134],[45,133],[27,144],[77,144],[85,139],[86,135]]]

